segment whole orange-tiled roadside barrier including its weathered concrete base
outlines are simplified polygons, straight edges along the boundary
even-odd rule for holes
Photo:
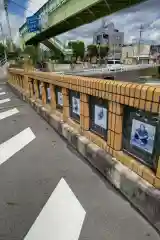
[[[8,75],[12,89],[160,231],[160,87],[29,69]]]

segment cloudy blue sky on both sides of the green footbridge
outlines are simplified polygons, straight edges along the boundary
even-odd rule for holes
[[[7,26],[3,11],[3,0],[0,0],[0,21],[3,31],[7,34]],[[19,43],[19,27],[25,22],[26,17],[35,13],[47,0],[9,0],[9,19],[12,37]],[[105,17],[106,23],[113,22],[115,28],[124,32],[125,43],[131,43],[139,38],[139,28],[142,24],[144,31],[142,39],[145,42],[160,43],[160,0],[148,0],[131,8],[121,10]],[[83,40],[86,44],[92,43],[94,32],[101,26],[102,19],[83,25],[67,33],[61,34],[62,42],[68,40]]]

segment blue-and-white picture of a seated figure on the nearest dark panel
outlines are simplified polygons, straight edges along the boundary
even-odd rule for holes
[[[153,153],[156,127],[139,120],[132,120],[130,144],[150,154]]]

